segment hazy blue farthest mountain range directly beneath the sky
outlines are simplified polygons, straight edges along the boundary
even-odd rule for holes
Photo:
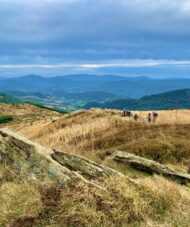
[[[114,75],[66,75],[41,77],[28,75],[19,78],[1,78],[0,92],[22,91],[60,95],[92,91],[111,93],[120,97],[141,98],[172,90],[190,88],[190,79],[152,79],[148,77],[122,77]]]

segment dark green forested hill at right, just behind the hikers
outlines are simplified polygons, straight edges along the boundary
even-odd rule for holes
[[[141,99],[118,99],[105,103],[88,103],[85,109],[107,108],[130,110],[164,110],[164,109],[189,109],[190,89],[181,89],[162,94],[144,96]]]

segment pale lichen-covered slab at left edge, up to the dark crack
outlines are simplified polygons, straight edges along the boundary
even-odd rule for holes
[[[8,129],[0,130],[1,162],[11,164],[19,173],[36,178],[48,177],[66,182],[77,175],[52,159],[53,151]]]

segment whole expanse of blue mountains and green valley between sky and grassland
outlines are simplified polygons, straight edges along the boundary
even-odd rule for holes
[[[32,84],[32,86],[28,86]],[[123,88],[124,86],[124,88]],[[0,101],[29,102],[62,112],[107,108],[163,110],[190,108],[190,80],[68,75],[1,79]],[[3,101],[4,100],[4,101]]]

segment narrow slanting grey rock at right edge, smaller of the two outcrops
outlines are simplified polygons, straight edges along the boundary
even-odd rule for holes
[[[190,182],[190,174],[177,172],[172,168],[167,167],[166,165],[162,165],[158,162],[146,158],[141,158],[137,155],[128,152],[114,151],[111,157],[113,160],[117,162],[126,163],[127,165],[130,165],[135,169],[139,169],[151,174],[152,173],[160,174],[172,180],[179,180],[181,183]]]

